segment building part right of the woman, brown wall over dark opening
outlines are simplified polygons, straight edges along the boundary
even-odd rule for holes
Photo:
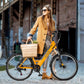
[[[77,0],[57,0],[57,27],[61,32],[59,49],[77,58]]]

